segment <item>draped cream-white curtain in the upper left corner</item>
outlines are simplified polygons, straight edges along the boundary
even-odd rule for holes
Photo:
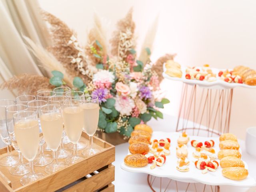
[[[37,0],[0,0],[0,84],[22,73],[47,75],[24,45],[22,34],[47,47],[50,38]],[[0,99],[13,97],[0,90]]]

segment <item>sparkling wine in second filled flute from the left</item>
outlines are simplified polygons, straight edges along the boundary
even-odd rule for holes
[[[58,113],[42,114],[40,122],[46,144],[51,150],[57,150],[62,137],[62,116]]]

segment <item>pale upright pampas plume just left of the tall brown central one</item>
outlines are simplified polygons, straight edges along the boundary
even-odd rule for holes
[[[94,46],[94,48],[97,47],[96,40],[102,46],[101,54],[103,56],[106,56],[108,51],[107,45],[106,45],[106,33],[102,27],[100,17],[98,16],[98,14],[94,13],[94,26],[88,33],[88,36],[87,36],[88,45],[86,46],[86,55],[90,60],[90,64],[93,66],[96,66],[96,64],[100,61],[99,58],[96,58],[94,56],[94,53],[91,50],[91,46]]]

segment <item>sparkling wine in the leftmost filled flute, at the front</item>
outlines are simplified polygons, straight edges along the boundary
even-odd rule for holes
[[[14,134],[22,155],[29,161],[36,157],[39,144],[37,120],[21,120],[14,125]]]

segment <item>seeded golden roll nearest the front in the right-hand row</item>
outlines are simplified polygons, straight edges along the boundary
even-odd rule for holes
[[[232,180],[242,180],[248,176],[248,170],[243,167],[226,167],[222,169],[222,175]]]

